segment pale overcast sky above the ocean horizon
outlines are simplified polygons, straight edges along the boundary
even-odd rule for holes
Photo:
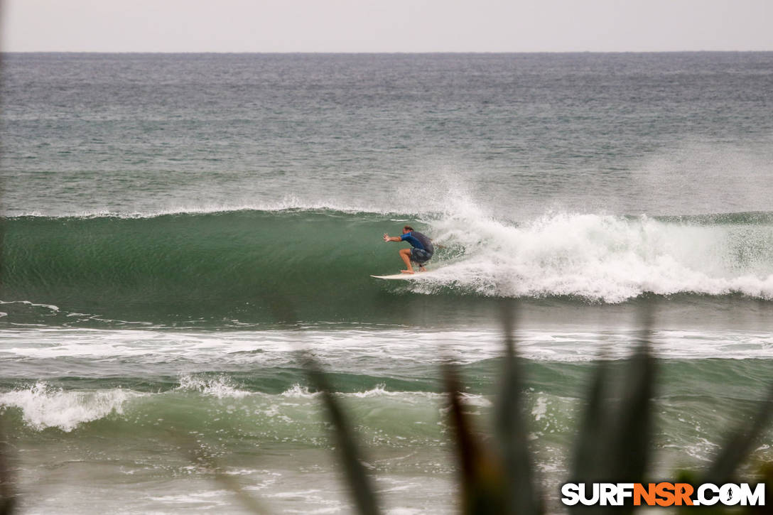
[[[773,0],[3,0],[7,52],[773,50]]]

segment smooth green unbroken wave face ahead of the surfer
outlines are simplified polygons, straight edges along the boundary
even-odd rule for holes
[[[3,300],[152,322],[366,317],[385,302],[369,275],[401,264],[381,235],[400,227],[308,211],[19,217],[5,223]]]

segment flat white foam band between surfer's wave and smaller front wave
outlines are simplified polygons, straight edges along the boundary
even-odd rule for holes
[[[612,359],[628,355],[639,334],[630,329],[561,328],[521,330],[518,348],[530,360],[586,361],[604,347]],[[673,359],[768,357],[773,337],[751,330],[662,329],[650,336],[656,353]],[[137,367],[195,367],[214,365],[240,370],[249,367],[282,367],[298,363],[298,342],[313,349],[325,367],[340,367],[352,360],[374,366],[410,366],[412,363],[475,363],[500,356],[502,334],[496,329],[440,331],[381,329],[369,334],[359,330],[267,330],[218,333],[175,333],[154,330],[102,329],[6,329],[0,333],[0,356],[9,363],[5,377],[18,370],[26,377],[23,363],[29,360],[78,360],[94,377],[112,373],[109,363],[131,360]],[[64,342],[64,343],[63,343]],[[14,364],[18,363],[18,364]],[[56,374],[56,370],[53,371]],[[181,385],[192,390],[217,387],[217,379],[183,375]],[[233,387],[233,384],[221,384]],[[377,391],[377,390],[376,390]],[[389,392],[384,392],[389,394]],[[286,391],[287,396],[309,394],[301,387]]]

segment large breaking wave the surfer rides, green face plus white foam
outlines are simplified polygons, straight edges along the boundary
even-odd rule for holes
[[[381,234],[412,223],[438,244],[430,274],[400,285]],[[575,298],[773,299],[773,213],[514,222],[475,206],[415,216],[243,210],[152,217],[5,219],[3,312],[15,319],[367,320],[405,293]],[[289,306],[289,307],[288,307]],[[293,315],[288,312],[295,310]]]

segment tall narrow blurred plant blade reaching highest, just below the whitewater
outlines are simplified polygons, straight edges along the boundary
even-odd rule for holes
[[[505,333],[505,367],[502,390],[495,407],[495,434],[509,485],[506,513],[539,515],[543,513],[543,506],[534,480],[533,459],[523,419],[523,369],[512,336],[515,323],[509,302],[502,309],[502,326]]]

